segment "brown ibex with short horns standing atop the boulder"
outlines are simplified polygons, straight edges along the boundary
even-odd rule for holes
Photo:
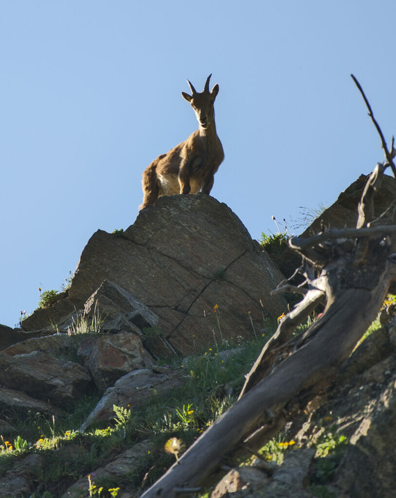
[[[191,104],[199,127],[184,142],[166,154],[158,156],[143,172],[143,203],[139,209],[163,195],[209,194],[213,187],[213,176],[224,159],[223,146],[216,133],[213,104],[219,92],[216,84],[209,92],[208,76],[202,93],[195,90],[187,80],[192,95],[181,92]]]

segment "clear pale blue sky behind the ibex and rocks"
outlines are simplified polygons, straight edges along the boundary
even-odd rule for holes
[[[60,289],[91,235],[126,229],[141,173],[219,83],[212,195],[253,238],[330,205],[396,134],[395,1],[0,1],[0,323]],[[171,230],[171,227],[169,227]]]

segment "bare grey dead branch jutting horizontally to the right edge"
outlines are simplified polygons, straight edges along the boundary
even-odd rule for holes
[[[314,247],[321,242],[330,239],[348,239],[348,238],[361,238],[361,237],[374,237],[377,235],[393,234],[396,232],[396,225],[380,225],[378,227],[370,228],[344,228],[344,229],[330,229],[328,232],[321,232],[314,235],[309,239],[303,237],[292,237],[289,239],[289,246],[291,249],[301,250],[308,247]]]

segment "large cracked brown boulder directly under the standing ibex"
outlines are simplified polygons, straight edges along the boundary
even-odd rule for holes
[[[238,217],[204,194],[162,197],[122,234],[96,232],[65,299],[82,309],[105,279],[148,307],[162,337],[182,354],[192,353],[193,335],[196,347],[212,344],[214,333],[220,340],[220,328],[223,339],[253,337],[248,312],[260,329],[263,314],[276,319],[286,308],[282,297],[270,295],[282,275]],[[121,299],[130,308],[123,292],[116,298],[102,292],[101,302],[119,306]],[[68,306],[64,300],[52,306],[52,319]],[[35,315],[22,322],[26,330],[48,325],[42,312]]]

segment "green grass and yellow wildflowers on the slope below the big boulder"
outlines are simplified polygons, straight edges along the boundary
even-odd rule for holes
[[[263,328],[259,330],[256,326],[254,340],[246,341],[242,337],[223,340],[219,305],[213,307],[213,312],[218,325],[214,337],[219,338],[214,345],[183,362],[177,358],[172,362],[159,362],[170,372],[183,373],[185,378],[185,382],[167,396],[159,396],[154,390],[151,398],[138,409],[132,409],[129,405],[114,405],[113,422],[98,424],[87,432],[79,432],[78,428],[101,398],[97,391],[81,398],[68,413],[62,415],[15,412],[12,424],[17,436],[12,440],[8,435],[8,440],[1,437],[0,478],[16,460],[34,452],[44,457],[45,465],[38,476],[39,491],[32,498],[62,496],[71,484],[87,475],[90,476],[87,478],[90,496],[103,498],[117,496],[128,488],[142,489],[156,481],[175,458],[180,458],[185,448],[233,405],[245,381],[245,374],[275,331],[276,324],[265,319]],[[100,331],[102,318],[96,311],[94,315],[94,318],[77,317],[70,339]],[[301,333],[313,319],[308,318],[296,332]],[[148,336],[149,332],[154,331],[147,331]],[[195,344],[193,334],[191,342]],[[235,347],[239,348],[238,354],[230,351]],[[230,351],[229,356],[224,355],[223,351]],[[148,440],[149,449],[122,478],[99,479],[94,476],[95,469],[106,465],[109,456],[116,456],[143,440]],[[309,488],[313,496],[333,496],[325,485],[331,479],[347,444],[348,440],[335,430],[323,431],[314,443],[315,469]],[[295,441],[282,440],[278,434],[264,445],[259,455],[280,464],[285,453],[295,451],[296,447],[298,444]]]

